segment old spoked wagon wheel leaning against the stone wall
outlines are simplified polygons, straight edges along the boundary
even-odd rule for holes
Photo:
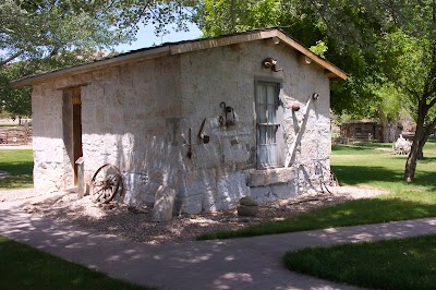
[[[123,185],[120,170],[106,164],[97,169],[90,181],[89,194],[94,203],[107,204],[117,193],[122,195]]]

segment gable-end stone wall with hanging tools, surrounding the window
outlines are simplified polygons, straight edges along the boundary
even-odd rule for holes
[[[272,57],[283,70],[272,72],[262,67],[262,60]],[[258,201],[272,201],[296,193],[294,180],[263,186],[249,186],[250,172],[256,170],[255,80],[281,83],[283,106],[284,150],[295,140],[295,125],[302,119],[303,107],[314,94],[319,99],[310,107],[296,161],[313,158],[328,164],[330,154],[329,81],[324,71],[299,60],[299,55],[282,45],[255,41],[182,55],[181,98],[186,125],[197,133],[206,118],[208,144],[194,135],[192,159],[179,191],[181,210],[198,213],[235,206],[239,198],[252,195]],[[235,125],[222,128],[221,101],[234,108]],[[292,113],[292,105],[302,110]],[[184,128],[184,133],[189,128]],[[293,170],[292,168],[289,170]],[[291,172],[291,174],[294,173]]]

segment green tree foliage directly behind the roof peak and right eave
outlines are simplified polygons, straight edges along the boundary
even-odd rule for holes
[[[198,24],[207,36],[265,26],[280,27],[348,73],[348,82],[331,84],[334,111],[339,114],[346,111],[367,114],[365,106],[361,105],[375,97],[372,87],[378,78],[374,72],[379,71],[379,62],[374,61],[377,59],[376,51],[366,49],[365,44],[379,38],[374,33],[378,26],[372,17],[351,5],[346,11],[335,8],[335,13],[347,15],[341,16],[344,22],[340,23],[332,13],[320,11],[319,5],[312,2],[206,0],[199,9]],[[353,27],[359,27],[362,33],[356,34]],[[319,46],[324,48],[318,50]]]

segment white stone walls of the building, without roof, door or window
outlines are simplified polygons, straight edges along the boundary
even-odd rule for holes
[[[283,70],[264,69],[262,60],[267,57],[277,59]],[[295,138],[294,117],[301,119],[307,98],[319,94],[312,104],[296,160],[325,158],[328,162],[329,81],[324,70],[300,62],[289,47],[258,40],[145,60],[36,86],[35,186],[72,185],[71,160],[62,141],[62,90],[58,88],[88,83],[82,87],[86,182],[97,168],[110,162],[123,173],[126,203],[153,203],[159,185],[165,184],[177,191],[174,212],[189,214],[233,207],[244,195],[257,201],[294,195],[293,179],[247,185],[256,170],[255,80],[264,78],[282,86],[284,147]],[[234,108],[235,125],[219,125],[221,101]],[[290,107],[295,102],[302,109],[293,117]],[[204,134],[210,137],[207,144],[197,136],[204,119]],[[293,172],[280,173],[287,176]]]

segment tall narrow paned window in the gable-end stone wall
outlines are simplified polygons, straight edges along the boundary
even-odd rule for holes
[[[257,168],[280,165],[279,149],[279,92],[278,83],[256,83]]]

